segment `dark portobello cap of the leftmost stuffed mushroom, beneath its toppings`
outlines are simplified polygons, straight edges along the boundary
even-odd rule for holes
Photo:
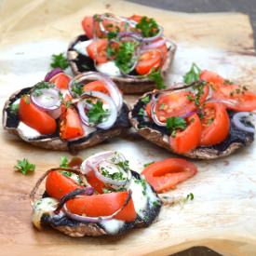
[[[106,141],[115,136],[119,136],[130,127],[128,121],[128,105],[124,102],[121,112],[115,121],[115,125],[110,129],[103,130],[101,128],[97,128],[95,131],[89,133],[88,136],[84,136],[73,141],[62,141],[59,137],[59,128],[57,128],[56,132],[51,135],[42,135],[34,139],[27,138],[19,132],[19,115],[15,115],[11,112],[11,105],[14,101],[20,99],[23,94],[28,93],[30,90],[31,88],[22,88],[10,96],[4,105],[2,123],[3,128],[9,133],[19,136],[21,140],[33,144],[34,146],[52,150],[69,150],[71,152],[75,152],[77,150],[82,150],[99,144],[102,141]]]

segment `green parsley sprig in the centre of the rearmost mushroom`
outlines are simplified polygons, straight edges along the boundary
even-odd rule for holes
[[[134,42],[122,42],[115,54],[115,64],[125,74],[129,73],[133,65],[135,47],[136,43]]]

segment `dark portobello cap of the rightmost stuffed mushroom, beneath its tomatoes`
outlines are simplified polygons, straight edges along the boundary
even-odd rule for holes
[[[141,99],[146,96],[149,96],[151,99],[152,92],[145,93],[135,102],[128,114],[130,123],[143,138],[175,154],[168,143],[168,137],[170,136],[168,128],[159,127],[153,121],[144,120],[141,115],[138,115],[141,107],[144,107],[146,104]],[[235,112],[228,111],[228,115],[231,119]],[[182,155],[195,159],[216,159],[231,155],[237,149],[248,146],[252,141],[254,141],[253,133],[236,128],[231,121],[229,135],[224,141],[212,146],[199,146],[195,150]]]

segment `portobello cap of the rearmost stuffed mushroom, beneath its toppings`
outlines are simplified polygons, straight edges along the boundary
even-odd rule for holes
[[[74,46],[78,42],[87,41],[88,36],[85,34],[81,34],[77,36],[74,41],[68,47],[67,58],[72,68],[74,74],[80,74],[88,71],[96,71],[94,67],[94,61],[90,59],[88,56],[82,55],[78,51],[74,49]],[[168,56],[166,61],[162,66],[162,73],[164,76],[168,73],[168,68],[171,65],[173,60],[176,45],[167,40],[168,47]],[[110,76],[110,78],[115,82],[115,84],[126,94],[133,93],[143,93],[149,90],[153,90],[155,88],[155,82],[151,81],[147,77],[126,77],[126,76]]]

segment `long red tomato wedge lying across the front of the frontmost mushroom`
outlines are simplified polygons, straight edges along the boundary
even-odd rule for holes
[[[101,195],[81,195],[66,203],[67,209],[74,214],[86,214],[89,217],[108,216],[121,209],[128,198],[128,192],[113,192]],[[137,217],[132,198],[115,219],[133,222]]]

